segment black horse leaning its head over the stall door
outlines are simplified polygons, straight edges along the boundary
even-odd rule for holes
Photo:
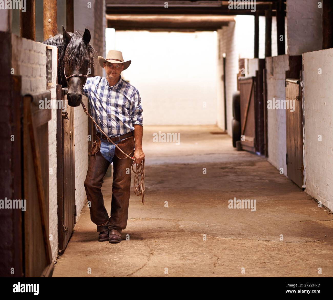
[[[88,29],[85,29],[82,36],[78,31],[67,32],[63,26],[62,34],[43,42],[58,47],[58,84],[68,88],[67,100],[70,106],[81,104],[82,87],[87,81],[88,68],[94,65],[96,50],[89,44],[90,39]]]

